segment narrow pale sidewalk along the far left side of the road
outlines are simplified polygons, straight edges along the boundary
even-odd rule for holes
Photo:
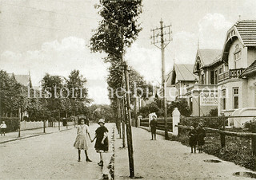
[[[74,126],[69,126],[68,129],[66,127],[61,126],[60,131],[66,131],[74,128]],[[26,139],[38,135],[47,135],[50,133],[58,132],[58,127],[46,127],[46,133],[43,133],[43,128],[32,129],[32,130],[24,130],[21,131],[21,137],[18,137],[18,131],[16,132],[8,132],[6,136],[0,136],[0,143],[7,143],[10,141],[18,140],[18,139]]]

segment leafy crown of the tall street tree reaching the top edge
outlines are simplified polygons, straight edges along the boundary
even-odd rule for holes
[[[142,1],[100,0],[96,8],[99,9],[98,14],[102,16],[102,21],[90,39],[91,50],[107,54],[104,60],[110,62],[110,75],[107,78],[109,96],[112,107],[117,109],[117,97],[112,96],[110,89],[116,92],[122,85],[120,65],[124,49],[136,40],[142,30],[138,23],[138,15],[142,13]]]

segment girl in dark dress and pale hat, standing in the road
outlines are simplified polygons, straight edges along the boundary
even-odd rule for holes
[[[100,155],[100,162],[98,162],[98,166],[103,166],[103,153],[109,150],[109,142],[107,138],[108,130],[104,126],[104,119],[99,119],[98,124],[100,125],[100,127],[98,127],[98,129],[95,131],[94,139],[96,139],[96,143],[94,147]],[[94,142],[94,139],[91,142]]]

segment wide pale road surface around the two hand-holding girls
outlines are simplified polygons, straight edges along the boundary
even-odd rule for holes
[[[112,132],[113,124],[106,125]],[[98,124],[90,126],[91,135]],[[111,135],[110,135],[111,136]],[[93,162],[78,162],[76,129],[0,144],[0,179],[102,179],[99,155],[90,143]],[[106,155],[109,162],[111,152]]]

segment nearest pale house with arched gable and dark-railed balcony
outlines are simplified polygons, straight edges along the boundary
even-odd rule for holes
[[[219,114],[256,107],[256,21],[241,21],[226,33],[222,62],[228,66],[218,80]]]

